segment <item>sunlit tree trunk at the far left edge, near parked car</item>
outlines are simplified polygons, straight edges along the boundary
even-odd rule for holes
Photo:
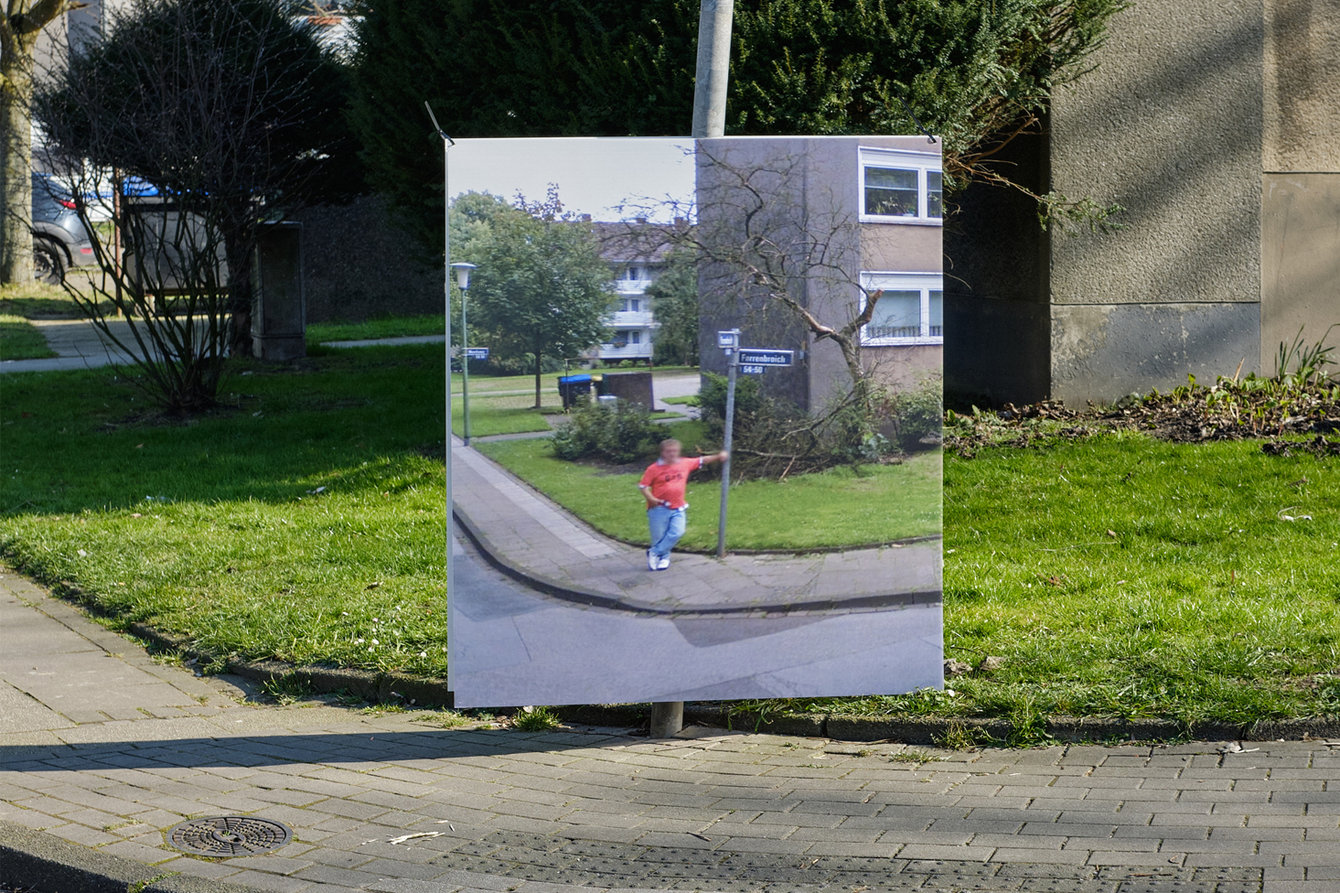
[[[0,284],[32,282],[32,48],[0,28]]]

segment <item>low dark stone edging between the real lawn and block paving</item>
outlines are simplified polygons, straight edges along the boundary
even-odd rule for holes
[[[100,617],[115,617],[102,610],[78,586],[59,581],[54,585],[59,595],[75,602],[83,610]],[[163,650],[177,650],[202,661],[217,656],[200,652],[184,637],[163,633],[146,623],[129,623],[126,632]],[[452,709],[454,696],[446,680],[423,678],[405,673],[379,673],[354,668],[300,666],[277,660],[248,661],[229,658],[229,673],[255,682],[269,682],[296,677],[312,693],[335,695],[350,692],[371,701],[399,699],[414,707],[441,707]],[[555,712],[565,721],[615,728],[646,727],[646,704],[578,704],[559,705]],[[880,715],[843,713],[779,713],[756,717],[720,703],[685,705],[686,723],[733,728],[769,735],[796,735],[803,737],[829,737],[839,741],[887,741],[904,744],[943,744],[951,732],[966,732],[974,741],[1001,744],[1009,739],[1013,725],[1002,719],[984,717],[900,717]],[[1047,719],[1048,741],[1067,744],[1101,741],[1268,741],[1278,739],[1340,739],[1340,716],[1309,719],[1261,720],[1257,723],[1191,721],[1167,719],[1108,719],[1052,716]],[[1041,740],[1037,743],[1043,743]]]

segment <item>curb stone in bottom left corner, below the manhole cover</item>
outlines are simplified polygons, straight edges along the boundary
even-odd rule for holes
[[[38,884],[54,893],[260,893],[99,853],[11,822],[0,822],[0,881],[20,888]]]

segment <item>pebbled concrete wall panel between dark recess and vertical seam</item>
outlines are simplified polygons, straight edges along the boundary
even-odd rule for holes
[[[1261,0],[1146,0],[1053,97],[1052,188],[1126,208],[1051,251],[1051,393],[1114,400],[1260,366]]]

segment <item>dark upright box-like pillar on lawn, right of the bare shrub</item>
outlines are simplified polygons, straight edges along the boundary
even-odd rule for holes
[[[252,267],[256,310],[252,350],[261,359],[307,355],[307,306],[303,300],[303,225],[277,223],[261,228]]]

